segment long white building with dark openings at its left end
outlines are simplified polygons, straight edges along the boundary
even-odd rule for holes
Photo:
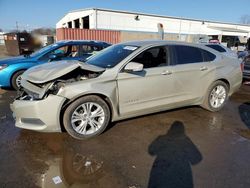
[[[240,42],[246,42],[250,37],[250,25],[99,8],[71,11],[56,24],[56,28],[158,32],[159,24],[163,25],[165,34],[177,34],[180,40],[182,35],[215,36],[222,42],[226,36],[237,36]]]

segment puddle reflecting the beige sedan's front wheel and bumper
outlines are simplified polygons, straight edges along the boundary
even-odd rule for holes
[[[36,183],[38,186],[49,188],[121,186],[115,173],[108,170],[101,159],[79,153],[72,148],[66,149],[62,156],[53,157],[46,163],[49,168],[38,178]],[[54,181],[55,178],[59,183]]]

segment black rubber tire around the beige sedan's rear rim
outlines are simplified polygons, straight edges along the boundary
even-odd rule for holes
[[[224,102],[217,108],[213,107],[211,102],[210,102],[210,97],[211,97],[211,94],[212,94],[212,91],[217,87],[217,86],[222,86],[224,87],[225,91],[226,91],[226,96],[225,96],[225,100]],[[207,94],[205,96],[205,99],[204,99],[204,102],[203,104],[201,105],[203,108],[205,108],[206,110],[209,110],[211,112],[217,112],[219,110],[221,110],[223,108],[223,106],[225,105],[227,99],[228,99],[228,85],[223,82],[223,81],[215,81],[209,88],[208,88],[208,91],[207,91]]]

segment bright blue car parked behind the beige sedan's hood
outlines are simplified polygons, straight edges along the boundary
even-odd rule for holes
[[[0,60],[0,88],[18,89],[22,73],[30,67],[58,60],[84,61],[110,44],[101,41],[60,41],[46,46],[29,56]]]

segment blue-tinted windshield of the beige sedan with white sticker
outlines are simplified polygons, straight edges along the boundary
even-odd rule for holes
[[[102,68],[112,68],[136,49],[138,49],[138,46],[114,45],[94,55],[86,63]]]

